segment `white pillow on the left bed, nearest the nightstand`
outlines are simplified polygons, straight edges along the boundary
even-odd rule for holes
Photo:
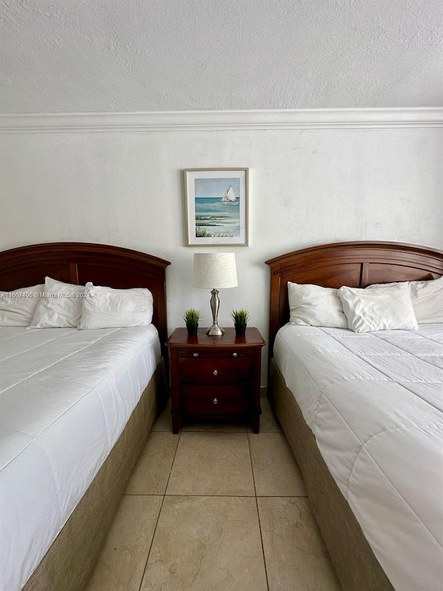
[[[92,283],[87,283],[86,288],[78,328],[118,328],[151,324],[154,298],[150,290],[114,290]]]

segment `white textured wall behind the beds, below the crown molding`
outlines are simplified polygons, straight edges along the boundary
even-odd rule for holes
[[[219,323],[248,308],[267,336],[268,258],[342,240],[443,248],[440,128],[24,133],[1,136],[0,249],[103,242],[150,252],[168,267],[168,320],[210,320],[192,288],[183,168],[250,168],[249,246],[238,288],[222,290]],[[263,359],[266,359],[264,352]],[[266,364],[264,364],[265,366]],[[265,375],[262,378],[265,383]]]

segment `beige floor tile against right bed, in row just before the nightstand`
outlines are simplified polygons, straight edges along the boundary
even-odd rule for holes
[[[249,433],[248,437],[257,496],[305,496],[300,469],[284,434]]]

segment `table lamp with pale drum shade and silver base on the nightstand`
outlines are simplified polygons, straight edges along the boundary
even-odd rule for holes
[[[210,299],[213,326],[206,330],[206,334],[217,337],[224,335],[223,328],[217,324],[220,305],[217,288],[235,288],[238,285],[235,254],[233,252],[195,253],[192,285],[195,288],[213,288]]]

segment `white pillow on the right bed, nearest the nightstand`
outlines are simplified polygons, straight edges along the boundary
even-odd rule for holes
[[[288,281],[289,322],[308,326],[347,328],[338,290]]]

